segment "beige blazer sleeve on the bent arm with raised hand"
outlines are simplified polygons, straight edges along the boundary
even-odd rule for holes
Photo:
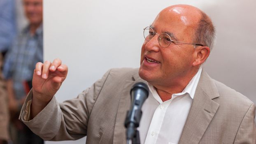
[[[32,120],[29,118],[32,100],[30,91],[21,109],[19,119],[44,140],[75,140],[86,136],[91,110],[109,72],[110,70],[104,74],[102,79],[80,93],[77,98],[58,104],[54,96]]]

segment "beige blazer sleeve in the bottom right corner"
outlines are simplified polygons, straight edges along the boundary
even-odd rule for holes
[[[255,105],[251,104],[237,131],[234,144],[256,144]]]

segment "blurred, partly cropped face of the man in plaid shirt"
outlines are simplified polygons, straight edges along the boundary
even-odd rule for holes
[[[26,17],[31,25],[38,25],[43,21],[42,0],[23,0]]]

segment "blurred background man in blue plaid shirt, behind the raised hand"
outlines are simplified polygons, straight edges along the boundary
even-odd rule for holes
[[[13,144],[43,144],[18,120],[24,98],[31,88],[34,65],[43,61],[42,0],[23,0],[28,26],[14,39],[5,57],[3,76],[7,80],[10,130]]]

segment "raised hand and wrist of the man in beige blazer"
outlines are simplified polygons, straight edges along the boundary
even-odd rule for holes
[[[33,74],[31,118],[36,116],[51,100],[67,77],[67,66],[60,59],[52,63],[37,63]]]

